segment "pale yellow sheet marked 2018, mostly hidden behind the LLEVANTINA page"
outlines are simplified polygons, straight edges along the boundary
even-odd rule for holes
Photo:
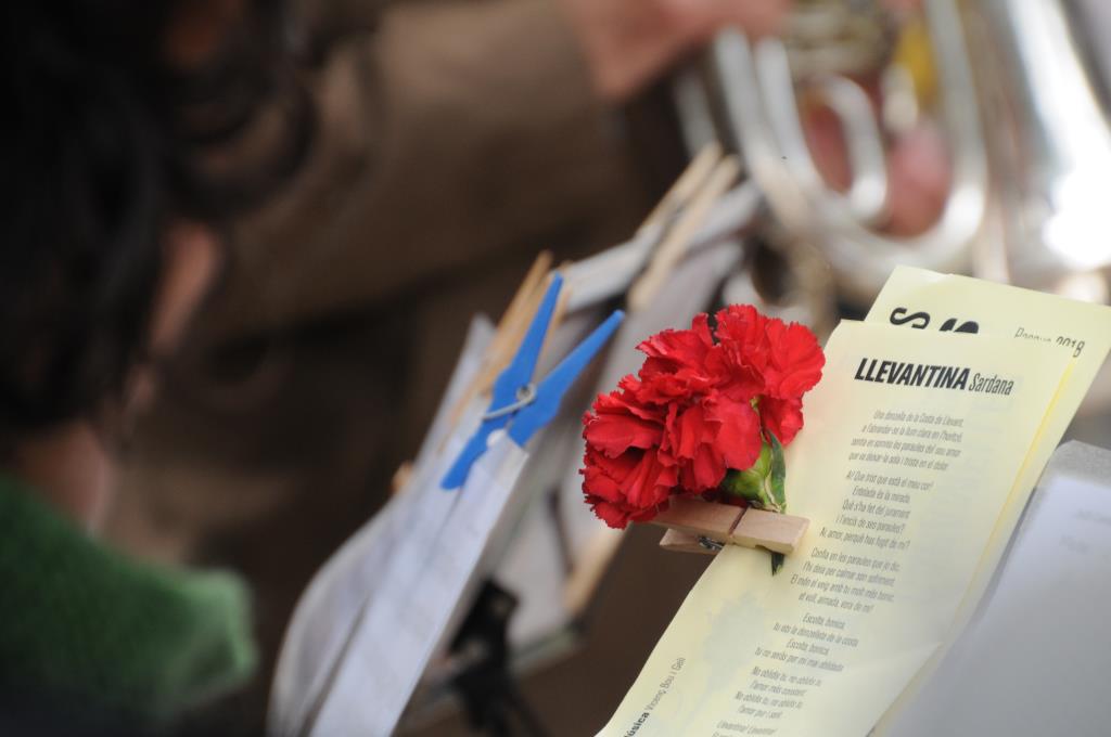
[[[1008,337],[1074,359],[989,538],[958,612],[951,633],[955,635],[975,612],[1038,477],[1103,365],[1111,347],[1111,307],[968,276],[900,266],[888,279],[865,321],[919,329],[913,332],[975,331],[978,335]],[[915,676],[892,707],[892,714],[930,677],[941,655],[939,650]],[[880,724],[878,733],[882,734],[884,727],[885,721]]]

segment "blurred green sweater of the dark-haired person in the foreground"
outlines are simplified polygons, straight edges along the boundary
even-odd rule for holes
[[[131,559],[0,475],[0,689],[166,724],[251,674],[248,610],[234,576]]]

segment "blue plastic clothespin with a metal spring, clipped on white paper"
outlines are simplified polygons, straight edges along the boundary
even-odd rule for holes
[[[560,402],[594,354],[605,344],[613,331],[624,319],[620,310],[594,329],[587,340],[575,346],[540,384],[532,382],[540,349],[556,311],[556,301],[563,284],[559,274],[552,279],[544,293],[543,302],[524,334],[521,346],[506,370],[498,374],[493,383],[490,406],[482,416],[482,424],[463,446],[459,457],[444,475],[440,486],[446,489],[459,488],[467,481],[467,474],[479,456],[486,453],[490,435],[509,427],[509,437],[520,447],[529,442],[538,430],[547,425],[559,412]],[[511,424],[512,423],[512,424]]]

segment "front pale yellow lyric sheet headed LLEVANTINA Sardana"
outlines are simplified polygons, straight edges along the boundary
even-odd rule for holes
[[[600,734],[865,735],[943,642],[1072,363],[842,323],[788,450],[801,548],[775,577],[719,554]]]

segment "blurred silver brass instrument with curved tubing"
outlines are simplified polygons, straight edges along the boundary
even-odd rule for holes
[[[735,145],[770,225],[820,252],[849,302],[870,303],[897,264],[1105,301],[1111,238],[1100,214],[1111,132],[1078,32],[1092,28],[1091,8],[925,0],[894,13],[890,4],[800,1],[782,38],[723,33],[694,84],[701,99],[690,79],[680,82],[688,132],[712,128]],[[915,24],[928,47],[917,62],[929,68],[919,89],[893,62]],[[808,144],[800,109],[814,100],[844,139],[851,181],[840,190]],[[884,229],[891,140],[922,114],[949,149],[948,194],[927,229],[893,234]]]

